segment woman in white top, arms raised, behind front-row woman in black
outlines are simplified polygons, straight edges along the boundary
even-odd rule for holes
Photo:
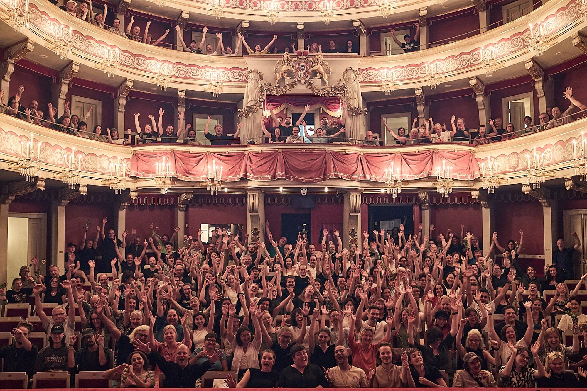
[[[249,312],[254,314],[251,316],[255,330],[260,331],[259,319],[261,318],[261,311],[257,306],[251,304]],[[232,324],[237,310],[234,304],[228,306],[228,324]],[[247,326],[241,326],[237,329],[236,335],[231,327],[227,328],[227,339],[233,352],[232,368],[233,372],[238,371],[238,378],[242,378],[247,369],[259,369],[259,348],[261,348],[261,333],[257,332],[253,339],[251,329]]]

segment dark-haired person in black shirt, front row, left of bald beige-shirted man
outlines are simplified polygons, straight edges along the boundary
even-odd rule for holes
[[[279,373],[277,385],[282,388],[317,388],[328,387],[326,376],[318,365],[308,363],[308,352],[302,344],[291,348],[294,365],[284,368]]]

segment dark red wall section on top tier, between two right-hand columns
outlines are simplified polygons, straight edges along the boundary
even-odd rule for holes
[[[433,18],[428,28],[428,42],[444,45],[454,40],[465,39],[479,33],[479,16],[474,8],[458,15]]]

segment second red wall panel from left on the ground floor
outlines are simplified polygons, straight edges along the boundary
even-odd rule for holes
[[[126,209],[126,229],[130,231],[136,227],[137,234],[144,240],[151,236],[150,223],[159,227],[159,236],[167,234],[171,237],[175,223],[175,208],[173,206],[156,205],[129,205]],[[180,242],[182,241],[180,240]]]

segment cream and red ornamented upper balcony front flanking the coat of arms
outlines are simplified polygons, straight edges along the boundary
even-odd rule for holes
[[[6,16],[8,0],[1,0],[0,3],[0,13]],[[18,51],[23,46],[22,40],[28,39],[34,49],[28,45],[22,56],[32,62],[60,71],[73,61],[80,66],[79,77],[99,80],[110,86],[120,86],[128,79],[134,81],[135,90],[149,91],[156,85],[161,64],[173,64],[170,86],[161,94],[177,96],[177,91],[181,90],[189,91],[187,96],[209,97],[204,90],[214,77],[224,82],[222,99],[236,102],[242,97],[249,69],[260,70],[265,81],[272,83],[275,80],[275,64],[281,59],[281,55],[198,55],[147,45],[83,22],[45,1],[32,0],[29,12],[29,27],[22,33],[15,33],[5,26],[6,33],[0,37],[4,47],[14,46],[13,49]],[[367,101],[385,97],[380,91],[385,77],[392,77],[396,84],[392,98],[413,96],[414,89],[429,88],[427,77],[430,73],[438,73],[441,84],[451,84],[453,90],[463,89],[469,86],[471,77],[494,82],[527,74],[525,62],[535,55],[529,26],[537,28],[541,25],[545,31],[549,49],[544,55],[536,57],[544,69],[581,55],[582,50],[587,50],[581,34],[583,30],[587,31],[587,21],[581,20],[581,12],[581,0],[549,1],[515,21],[447,45],[393,56],[325,54],[324,59],[332,68],[329,79],[332,83],[342,76],[346,67],[357,69]],[[65,59],[53,53],[55,42],[62,38],[62,26],[66,37],[72,29],[73,49],[71,53],[66,53]],[[18,43],[21,45],[18,46]],[[494,48],[497,55],[497,71],[491,79],[481,69],[481,49],[488,47]],[[120,53],[120,67],[114,77],[109,78],[102,72],[102,64],[112,50]],[[22,56],[19,55],[19,58]],[[292,92],[309,93],[301,85]]]

